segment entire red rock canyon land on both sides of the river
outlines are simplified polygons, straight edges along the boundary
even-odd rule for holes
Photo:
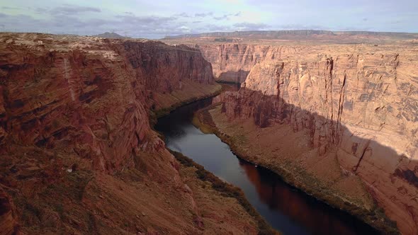
[[[197,125],[239,157],[375,229],[417,234],[417,38],[0,33],[0,231],[276,233],[153,129],[216,96]]]

